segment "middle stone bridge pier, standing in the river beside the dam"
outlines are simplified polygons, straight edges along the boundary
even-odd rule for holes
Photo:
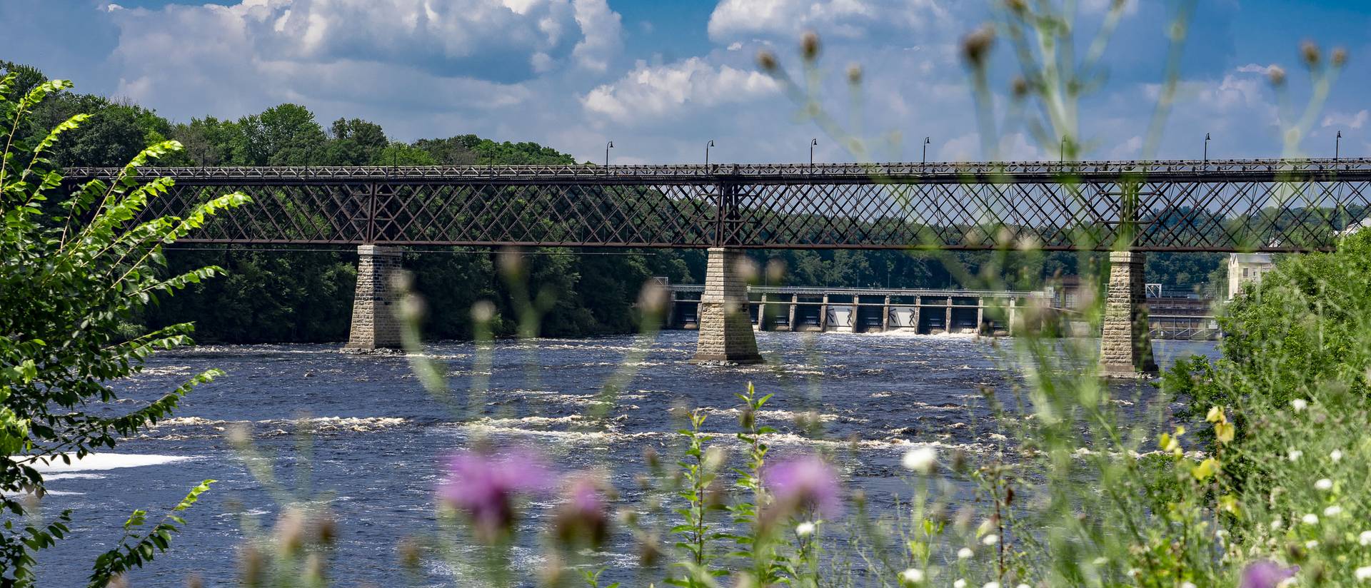
[[[747,282],[740,249],[712,247],[699,297],[699,341],[691,363],[761,363],[757,336],[747,314]]]

